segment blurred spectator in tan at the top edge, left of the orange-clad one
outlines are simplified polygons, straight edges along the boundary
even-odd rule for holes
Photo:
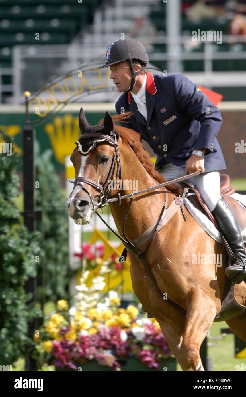
[[[187,19],[195,21],[197,19],[216,19],[226,16],[227,0],[197,0],[191,7],[185,9]]]

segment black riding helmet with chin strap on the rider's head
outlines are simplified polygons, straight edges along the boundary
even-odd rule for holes
[[[111,66],[117,64],[118,62],[129,61],[132,72],[132,81],[131,87],[128,91],[132,91],[133,85],[135,83],[135,77],[139,75],[146,67],[141,65],[141,69],[138,72],[135,72],[132,62],[133,59],[136,59],[140,62],[142,61],[145,64],[149,63],[148,54],[143,44],[138,40],[125,37],[125,39],[118,39],[110,44],[106,55],[106,64],[100,66],[100,68]]]

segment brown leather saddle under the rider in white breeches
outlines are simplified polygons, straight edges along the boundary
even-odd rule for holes
[[[187,183],[185,182],[180,182],[180,185],[183,188],[189,187],[189,185],[187,185]],[[208,206],[205,204],[199,191],[193,187],[189,187],[189,193],[195,193],[194,195],[189,195],[187,197],[190,200],[190,202],[195,206],[195,208],[206,214],[206,216],[208,216],[210,221],[218,229],[216,220],[214,219],[214,216],[210,212]],[[226,200],[227,204],[229,204],[229,206],[233,210],[240,225],[240,229],[242,231],[246,227],[246,212],[244,211],[244,208],[242,208],[242,206],[239,204],[239,202],[235,200],[235,198],[230,196],[233,193],[235,193],[235,189],[230,183],[229,175],[227,174],[220,175],[220,195],[224,200]],[[225,258],[225,266],[227,266],[228,254],[224,244],[223,244],[223,251]],[[231,318],[238,316],[239,314],[244,312],[244,310],[246,310],[246,307],[238,303],[237,300],[235,299],[234,287],[235,284],[230,279],[226,278],[225,290],[221,301],[221,310],[220,313],[217,314],[217,316],[215,317],[214,322],[230,320]]]

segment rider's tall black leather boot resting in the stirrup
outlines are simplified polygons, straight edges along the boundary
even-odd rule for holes
[[[223,198],[218,201],[212,214],[235,255],[231,265],[225,269],[225,274],[233,283],[239,284],[243,280],[246,282],[246,252],[237,218]]]

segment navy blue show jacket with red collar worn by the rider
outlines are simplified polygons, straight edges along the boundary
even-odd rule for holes
[[[140,133],[157,154],[156,168],[168,160],[185,171],[192,150],[207,148],[205,172],[226,169],[216,139],[222,124],[221,113],[197,86],[181,74],[163,75],[147,72],[147,118],[142,116],[130,92],[123,93],[115,104],[116,112],[134,112],[121,122],[123,127]],[[117,129],[117,128],[116,128]]]

